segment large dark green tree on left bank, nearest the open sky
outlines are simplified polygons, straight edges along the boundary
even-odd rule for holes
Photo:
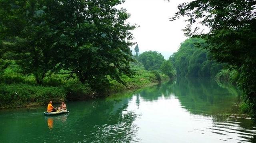
[[[64,67],[75,73],[82,83],[88,82],[94,89],[108,86],[109,75],[119,82],[120,75],[131,74],[129,62],[133,61],[130,46],[131,30],[134,25],[126,24],[130,17],[124,9],[115,6],[122,0],[82,1],[79,4],[63,3],[68,16],[74,19],[76,26],[70,27],[64,34],[74,45],[66,46]],[[66,41],[65,40],[65,41]],[[64,54],[65,55],[65,54]],[[65,58],[64,58],[65,59]],[[103,90],[103,89],[102,89]]]

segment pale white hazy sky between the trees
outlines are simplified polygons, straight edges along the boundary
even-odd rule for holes
[[[183,35],[186,23],[183,19],[173,22],[169,18],[178,11],[178,4],[191,0],[126,0],[122,7],[131,14],[128,22],[137,24],[134,41],[139,45],[140,52],[158,51],[168,59],[176,52],[187,37]],[[131,48],[134,51],[134,47]]]

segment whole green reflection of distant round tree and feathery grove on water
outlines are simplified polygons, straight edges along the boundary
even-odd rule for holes
[[[138,93],[146,101],[170,98],[174,94],[190,113],[208,115],[230,113],[234,103],[240,99],[236,88],[219,86],[209,78],[178,78],[161,86],[138,90]]]

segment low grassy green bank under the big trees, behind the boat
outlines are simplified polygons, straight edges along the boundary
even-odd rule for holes
[[[49,74],[42,85],[36,85],[33,75],[18,74],[15,68],[6,69],[0,76],[0,108],[19,108],[24,106],[45,105],[52,100],[54,103],[63,100],[88,100],[108,96],[124,90],[136,90],[144,86],[168,80],[168,76],[160,76],[158,71],[146,71],[142,66],[131,65],[134,75],[122,75],[124,83],[119,83],[110,77],[106,94],[99,94],[90,88],[89,84],[82,84],[76,76],[66,74]]]

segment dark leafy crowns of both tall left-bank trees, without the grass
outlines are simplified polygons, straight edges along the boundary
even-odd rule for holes
[[[66,69],[92,88],[131,74],[129,14],[122,0],[1,0],[0,39],[24,74],[42,84],[47,73]],[[101,91],[101,90],[99,90]]]

